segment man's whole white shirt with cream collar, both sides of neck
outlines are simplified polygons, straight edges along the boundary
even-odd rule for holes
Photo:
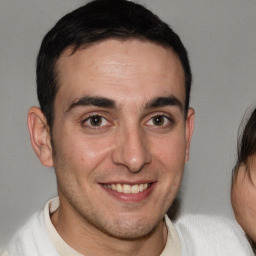
[[[59,206],[50,200],[9,243],[2,256],[82,256],[53,226],[50,214]],[[230,220],[205,215],[181,216],[173,225],[166,216],[167,243],[160,256],[253,256],[241,228]]]

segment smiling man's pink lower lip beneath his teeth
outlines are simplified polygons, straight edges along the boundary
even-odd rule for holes
[[[156,182],[151,183],[151,185],[144,191],[139,192],[137,194],[126,194],[126,193],[121,193],[117,192],[116,190],[112,190],[110,188],[104,187],[102,184],[100,184],[101,187],[107,191],[111,196],[125,202],[141,202],[145,200],[146,198],[149,197],[149,195],[152,193],[156,186]]]

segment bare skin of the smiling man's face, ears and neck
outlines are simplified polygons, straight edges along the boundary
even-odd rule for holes
[[[139,40],[71,52],[57,63],[53,145],[40,109],[28,115],[32,146],[57,175],[60,207],[52,222],[85,255],[159,255],[194,125],[193,109],[184,116],[181,63],[172,50]],[[95,106],[95,97],[112,105]],[[94,103],[85,104],[88,98]],[[134,195],[103,186],[117,183],[151,186]]]

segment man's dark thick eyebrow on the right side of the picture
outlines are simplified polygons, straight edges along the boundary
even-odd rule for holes
[[[150,100],[146,104],[146,108],[159,108],[159,107],[165,107],[165,106],[176,106],[180,110],[183,110],[183,105],[181,101],[175,97],[174,95],[168,96],[168,97],[157,97],[152,100]]]

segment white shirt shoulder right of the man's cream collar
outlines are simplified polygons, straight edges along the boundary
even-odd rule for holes
[[[189,255],[254,255],[244,232],[232,219],[186,214],[175,222],[175,227]]]

